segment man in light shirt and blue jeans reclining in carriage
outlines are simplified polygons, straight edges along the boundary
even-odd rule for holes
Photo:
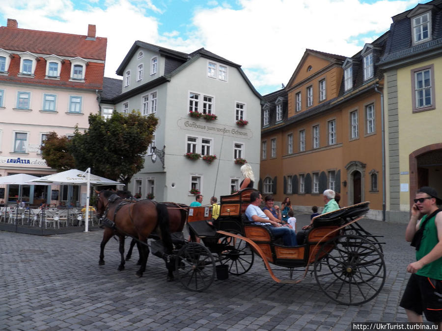
[[[261,193],[254,191],[250,194],[250,204],[246,209],[246,216],[249,221],[253,224],[268,227],[275,238],[282,237],[284,246],[297,246],[296,232],[293,229],[283,227],[278,222],[272,221],[259,207],[261,202]]]

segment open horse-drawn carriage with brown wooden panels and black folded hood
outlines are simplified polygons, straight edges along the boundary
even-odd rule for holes
[[[165,254],[156,254],[165,257],[169,266],[174,261],[175,275],[187,289],[207,289],[217,272],[219,277],[227,272],[236,276],[245,274],[257,255],[279,283],[298,283],[312,267],[321,290],[341,304],[360,305],[379,294],[386,278],[380,236],[357,223],[369,210],[368,202],[315,217],[304,243],[287,247],[275,240],[266,226],[248,221],[244,212],[253,191],[256,190],[244,189],[221,196],[217,220],[212,220],[209,206],[189,207],[189,231],[200,237],[204,245],[182,239],[175,241],[173,248],[165,248]],[[183,210],[182,206],[177,209]],[[277,278],[271,265],[287,269],[290,278]],[[295,268],[304,268],[300,280],[292,279]]]

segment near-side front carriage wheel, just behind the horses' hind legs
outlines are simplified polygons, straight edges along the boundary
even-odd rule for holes
[[[178,279],[188,290],[201,292],[215,278],[215,259],[203,245],[188,243],[178,251],[175,270]]]

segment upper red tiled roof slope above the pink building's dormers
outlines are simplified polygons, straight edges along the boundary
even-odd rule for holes
[[[9,51],[55,54],[58,56],[106,59],[107,38],[59,32],[47,32],[0,26],[0,48]]]

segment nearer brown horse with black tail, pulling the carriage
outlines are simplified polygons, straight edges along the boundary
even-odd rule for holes
[[[173,245],[170,237],[171,232],[183,230],[187,213],[183,209],[167,209],[166,204],[157,204],[152,200],[141,200],[135,203],[125,202],[112,191],[95,191],[98,194],[97,213],[105,220],[103,240],[100,245],[99,265],[104,265],[104,248],[112,237],[119,237],[119,252],[121,262],[118,270],[124,270],[124,239],[126,235],[138,239],[137,246],[140,254],[140,268],[137,276],[141,277],[146,269],[149,246],[147,238],[151,234],[157,234],[162,238],[165,253],[170,254]],[[111,225],[111,226],[109,226]],[[171,269],[168,279],[173,279]]]

